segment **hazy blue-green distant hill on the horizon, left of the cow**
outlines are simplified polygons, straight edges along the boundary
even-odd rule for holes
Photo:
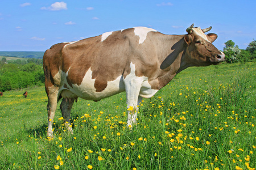
[[[0,56],[20,58],[43,58],[44,52],[0,52]]]

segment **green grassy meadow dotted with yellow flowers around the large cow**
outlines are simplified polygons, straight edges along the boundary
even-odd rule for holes
[[[22,94],[28,91],[25,99]],[[79,99],[73,134],[59,107],[47,138],[44,87],[0,97],[0,169],[255,169],[256,63],[188,68],[139,105]],[[59,102],[60,104],[60,102]]]

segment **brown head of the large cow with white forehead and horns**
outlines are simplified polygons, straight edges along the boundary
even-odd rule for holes
[[[201,29],[193,28],[192,24],[187,28],[188,34],[184,36],[187,43],[186,59],[194,66],[216,65],[224,61],[225,54],[218,50],[212,42],[217,39],[215,33],[205,35],[212,27]]]

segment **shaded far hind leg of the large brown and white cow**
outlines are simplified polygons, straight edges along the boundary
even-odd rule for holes
[[[74,104],[74,101],[75,101],[74,98],[65,98],[61,101],[61,104],[60,104],[60,110],[64,120],[64,125],[68,129],[68,131],[72,134],[73,134],[73,130],[70,122],[71,121],[70,114],[71,114],[71,109]]]

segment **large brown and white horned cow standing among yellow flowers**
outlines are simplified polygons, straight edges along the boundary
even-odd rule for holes
[[[217,65],[225,54],[212,42],[212,27],[186,29],[185,35],[164,35],[155,29],[134,27],[51,46],[43,56],[48,96],[48,131],[57,102],[64,124],[72,133],[70,114],[80,97],[99,101],[126,92],[127,126],[136,124],[139,103],[166,86],[177,73],[191,66]]]

